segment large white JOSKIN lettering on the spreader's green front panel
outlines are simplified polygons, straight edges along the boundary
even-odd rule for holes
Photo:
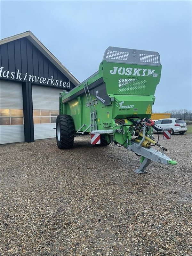
[[[110,70],[111,75],[125,75],[125,76],[150,76],[153,75],[157,77],[158,74],[154,73],[155,69],[145,69],[145,68],[124,68],[124,67],[113,67]]]

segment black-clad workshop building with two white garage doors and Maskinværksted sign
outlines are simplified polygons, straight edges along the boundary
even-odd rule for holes
[[[79,81],[30,32],[0,40],[0,144],[55,137],[59,93]]]

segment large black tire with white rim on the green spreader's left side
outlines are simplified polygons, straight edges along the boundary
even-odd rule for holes
[[[56,139],[60,149],[73,147],[75,125],[73,118],[69,115],[59,115],[56,120]]]

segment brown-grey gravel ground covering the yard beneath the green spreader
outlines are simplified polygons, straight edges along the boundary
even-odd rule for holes
[[[176,166],[89,136],[60,150],[56,140],[0,151],[0,255],[192,255],[191,134],[160,144]]]

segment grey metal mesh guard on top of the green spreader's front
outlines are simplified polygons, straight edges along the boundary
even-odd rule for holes
[[[103,60],[107,62],[144,64],[150,66],[160,66],[160,55],[158,52],[134,50],[119,47],[108,47],[104,53]]]

